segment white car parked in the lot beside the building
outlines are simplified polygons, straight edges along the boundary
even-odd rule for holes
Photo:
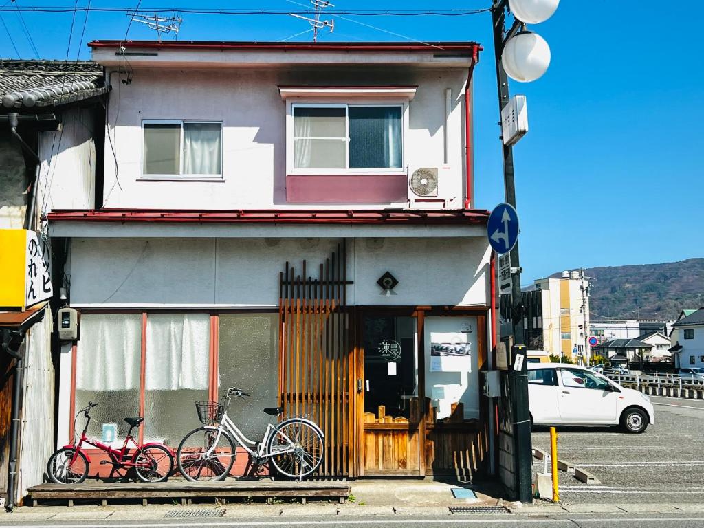
[[[529,363],[528,398],[536,425],[621,425],[642,433],[655,423],[648,396],[577,365]]]

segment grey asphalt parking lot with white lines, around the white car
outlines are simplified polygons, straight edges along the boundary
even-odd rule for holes
[[[587,486],[560,472],[565,503],[704,503],[704,401],[650,397],[655,425],[643,434],[608,427],[558,427],[558,458],[601,480]],[[533,446],[550,451],[537,428]],[[534,464],[542,470],[542,462]]]

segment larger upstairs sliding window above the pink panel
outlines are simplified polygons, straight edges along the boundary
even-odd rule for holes
[[[403,108],[401,104],[293,104],[292,172],[401,172]]]

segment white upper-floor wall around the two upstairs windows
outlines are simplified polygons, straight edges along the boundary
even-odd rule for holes
[[[417,85],[408,110],[406,165],[411,171],[439,168],[439,198],[446,199],[449,208],[463,206],[464,68],[137,68],[128,85],[120,83],[118,75],[108,72],[108,76],[114,89],[106,127],[106,208],[310,208],[286,201],[286,103],[279,84]],[[451,89],[447,116],[446,89]],[[444,164],[446,117],[448,163]],[[144,119],[222,120],[222,181],[140,180]],[[408,206],[408,202],[355,207],[380,206]]]

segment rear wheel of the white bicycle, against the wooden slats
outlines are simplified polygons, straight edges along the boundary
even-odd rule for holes
[[[325,442],[313,425],[291,418],[274,429],[267,449],[279,473],[298,479],[318,470],[325,454]]]

